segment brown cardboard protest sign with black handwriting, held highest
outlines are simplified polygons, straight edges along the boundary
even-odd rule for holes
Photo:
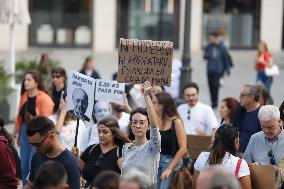
[[[120,39],[117,81],[170,86],[172,58],[170,41]]]

